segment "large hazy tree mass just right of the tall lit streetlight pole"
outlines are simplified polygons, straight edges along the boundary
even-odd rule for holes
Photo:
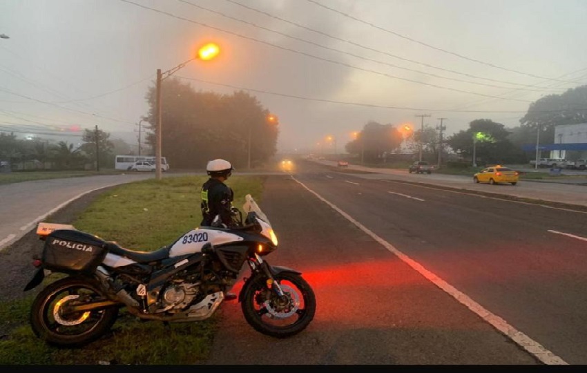
[[[155,149],[156,90],[146,100],[151,106],[146,141]],[[225,158],[236,167],[267,161],[277,151],[278,126],[267,121],[269,111],[256,97],[238,91],[233,95],[196,92],[177,78],[162,82],[162,155],[177,168],[202,167],[208,160]]]

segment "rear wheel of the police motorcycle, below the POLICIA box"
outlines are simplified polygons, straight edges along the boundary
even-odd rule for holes
[[[68,305],[106,300],[99,283],[89,278],[66,277],[41,290],[32,303],[30,325],[35,335],[57,347],[80,347],[106,334],[118,308],[66,313]]]

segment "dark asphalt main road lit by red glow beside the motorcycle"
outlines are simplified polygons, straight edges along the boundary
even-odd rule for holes
[[[224,303],[206,364],[587,363],[587,213],[338,171],[300,164],[262,198],[280,239],[267,260],[304,273],[314,322],[276,340]]]

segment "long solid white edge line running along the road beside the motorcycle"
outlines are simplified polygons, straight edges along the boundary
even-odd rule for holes
[[[294,178],[294,177],[292,177],[292,178],[294,180],[296,180],[296,182],[298,182],[298,184],[300,184],[302,187],[307,189],[307,191],[316,195],[316,197],[319,200],[321,200],[325,204],[328,204],[332,209],[338,211],[338,213],[340,213],[340,215],[344,216],[347,220],[349,220],[349,222],[352,222],[353,224],[355,224],[356,227],[358,227],[358,229],[364,231],[365,233],[367,233],[367,235],[371,236],[374,240],[376,240],[381,245],[383,245],[383,247],[385,247],[385,249],[390,251],[392,254],[395,254],[398,258],[400,258],[400,260],[402,260],[407,265],[409,265],[410,267],[412,267],[413,269],[418,271],[418,273],[421,274],[422,276],[424,276],[424,278],[426,278],[427,280],[430,280],[431,283],[433,283],[437,287],[443,289],[447,294],[449,294],[454,299],[459,301],[459,303],[462,303],[463,305],[468,307],[468,309],[470,309],[472,312],[477,314],[483,320],[487,321],[495,329],[499,330],[499,332],[505,334],[506,336],[508,336],[508,338],[510,338],[515,343],[517,343],[524,350],[526,350],[530,354],[534,355],[536,358],[539,359],[539,361],[541,361],[545,364],[548,364],[548,365],[568,365],[568,363],[566,363],[566,361],[564,361],[559,356],[553,354],[550,350],[547,350],[546,347],[544,347],[543,345],[541,345],[537,341],[534,341],[532,338],[530,338],[526,334],[523,334],[522,332],[520,332],[519,330],[514,328],[512,325],[508,324],[505,320],[503,320],[503,318],[497,316],[496,314],[493,314],[488,309],[483,308],[483,306],[479,305],[479,303],[475,302],[474,300],[469,298],[467,295],[463,294],[461,291],[459,291],[458,289],[456,289],[455,287],[453,287],[452,285],[447,283],[445,280],[443,280],[442,278],[439,278],[439,276],[436,276],[436,274],[433,274],[431,271],[428,271],[427,269],[425,269],[420,263],[416,262],[415,260],[412,260],[412,258],[403,254],[403,252],[396,249],[396,247],[394,247],[394,245],[383,240],[383,238],[377,236],[374,232],[367,229],[367,227],[365,227],[363,224],[360,224],[360,222],[354,220],[354,218],[349,216],[349,214],[345,213],[345,211],[339,209],[338,207],[336,207],[336,205],[332,204],[328,200],[325,200],[325,198],[323,198],[321,195],[319,195],[315,191],[306,187],[305,184],[303,184],[302,182],[300,182],[296,178]]]

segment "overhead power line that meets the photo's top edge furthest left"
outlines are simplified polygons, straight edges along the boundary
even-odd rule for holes
[[[440,89],[445,89],[445,90],[452,90],[454,92],[467,93],[467,94],[470,94],[470,95],[478,95],[478,96],[482,96],[482,97],[490,97],[490,98],[504,99],[503,97],[499,97],[499,96],[485,95],[483,93],[471,92],[469,90],[461,90],[461,89],[457,89],[457,88],[449,88],[449,87],[445,87],[445,86],[439,86],[439,85],[436,85],[436,84],[430,84],[430,83],[425,83],[425,82],[418,82],[417,80],[413,80],[413,79],[407,79],[407,78],[403,78],[403,77],[396,77],[394,75],[389,75],[387,73],[381,73],[381,72],[378,72],[378,71],[375,71],[375,70],[369,70],[367,68],[360,68],[358,66],[353,66],[351,64],[345,64],[344,62],[334,61],[332,59],[326,59],[326,58],[318,57],[318,56],[315,56],[315,55],[311,55],[310,53],[301,52],[299,50],[294,50],[294,49],[291,49],[291,48],[285,48],[283,46],[278,46],[276,44],[271,44],[271,43],[269,43],[267,41],[262,41],[262,40],[259,40],[259,39],[255,39],[253,37],[247,37],[245,35],[239,34],[238,32],[232,32],[232,31],[224,30],[222,28],[215,27],[215,26],[209,26],[209,25],[206,25],[206,23],[202,23],[202,22],[198,22],[198,21],[193,21],[193,19],[186,19],[184,17],[176,16],[176,15],[173,15],[173,14],[171,14],[169,12],[164,12],[163,10],[158,10],[158,9],[155,9],[155,8],[150,8],[148,6],[144,6],[142,4],[133,3],[133,1],[129,1],[129,0],[120,0],[120,1],[123,1],[124,3],[130,3],[130,4],[133,4],[134,6],[138,6],[140,8],[144,8],[144,9],[147,9],[147,10],[152,10],[153,12],[161,13],[162,15],[167,15],[169,17],[180,19],[182,21],[187,21],[187,22],[190,22],[190,23],[195,23],[197,25],[204,26],[206,28],[211,28],[213,30],[218,30],[218,31],[221,31],[221,32],[226,32],[229,35],[234,35],[236,37],[241,37],[243,39],[247,39],[247,40],[251,40],[251,41],[256,41],[258,43],[265,44],[267,46],[272,46],[274,48],[279,48],[281,50],[287,50],[289,52],[294,52],[294,53],[297,53],[299,55],[305,55],[307,57],[311,57],[311,58],[314,58],[314,59],[319,59],[320,61],[326,61],[326,62],[329,62],[331,64],[337,64],[337,65],[340,65],[340,66],[346,66],[348,68],[354,68],[356,70],[365,71],[367,73],[374,73],[374,74],[377,74],[377,75],[383,75],[383,76],[386,76],[386,77],[390,77],[392,79],[398,79],[398,80],[403,80],[405,82],[412,82],[412,83],[416,83],[416,84],[422,84],[424,86],[430,86],[430,87],[440,88]],[[510,100],[510,101],[517,101],[517,102],[528,102],[528,103],[531,102],[531,101],[529,101],[527,99],[508,99],[508,100]]]

